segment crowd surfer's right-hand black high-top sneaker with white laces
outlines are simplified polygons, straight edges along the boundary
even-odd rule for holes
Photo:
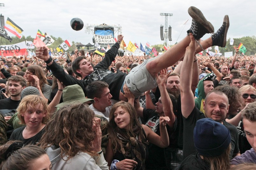
[[[229,17],[224,16],[223,24],[216,33],[211,35],[212,46],[225,47],[227,43],[227,32],[229,28]]]

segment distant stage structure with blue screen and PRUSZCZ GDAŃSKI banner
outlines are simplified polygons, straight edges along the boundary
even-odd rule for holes
[[[93,35],[94,46],[98,43],[100,47],[109,45],[110,47],[114,45],[114,37],[116,35],[122,34],[121,25],[107,25],[105,23],[101,25],[89,25],[85,26],[85,33]]]

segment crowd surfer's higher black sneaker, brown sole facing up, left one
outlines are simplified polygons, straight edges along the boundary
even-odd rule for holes
[[[192,17],[191,28],[187,33],[192,33],[196,40],[202,38],[206,33],[213,33],[214,27],[211,22],[207,21],[203,13],[196,7],[189,7],[189,15]]]

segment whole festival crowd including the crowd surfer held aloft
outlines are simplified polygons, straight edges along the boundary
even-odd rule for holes
[[[225,47],[229,17],[214,33],[188,12],[188,35],[154,58],[118,56],[122,35],[103,56],[1,51],[0,169],[254,169],[256,58],[196,55]]]

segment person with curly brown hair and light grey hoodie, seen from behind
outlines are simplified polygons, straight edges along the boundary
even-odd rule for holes
[[[85,104],[60,108],[45,127],[40,147],[52,170],[108,170],[101,145],[100,119]]]

